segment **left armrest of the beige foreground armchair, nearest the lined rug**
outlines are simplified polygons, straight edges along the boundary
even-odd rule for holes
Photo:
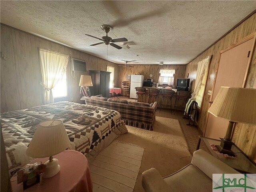
[[[142,173],[142,186],[145,192],[168,192],[170,186],[166,184],[158,170],[151,168]]]

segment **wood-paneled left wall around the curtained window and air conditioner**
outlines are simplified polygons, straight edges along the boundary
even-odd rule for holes
[[[1,112],[25,109],[43,104],[43,87],[38,48],[46,48],[85,60],[86,72],[76,72],[71,76],[71,59],[68,62],[68,100],[84,102],[80,98],[80,75],[89,74],[89,70],[106,71],[106,66],[115,67],[115,81],[119,80],[117,64],[108,62],[84,52],[68,48],[61,44],[40,38],[27,32],[1,24]],[[4,59],[6,57],[6,60]]]

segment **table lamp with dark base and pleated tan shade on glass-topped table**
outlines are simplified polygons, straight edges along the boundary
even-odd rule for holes
[[[234,156],[231,135],[234,123],[256,124],[256,89],[221,87],[208,112],[229,120],[226,136],[216,146],[223,154]]]

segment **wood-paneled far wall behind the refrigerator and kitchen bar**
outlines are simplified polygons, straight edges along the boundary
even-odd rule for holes
[[[174,85],[176,85],[177,78],[184,78],[186,65],[134,65],[134,67],[121,67],[119,66],[118,86],[121,88],[122,81],[126,80],[128,74],[140,74],[145,76],[146,79],[153,79],[153,82],[158,83],[160,69],[175,69]],[[150,78],[149,74],[153,77]]]

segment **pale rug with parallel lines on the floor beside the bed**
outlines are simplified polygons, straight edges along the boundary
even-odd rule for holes
[[[94,192],[132,192],[140,170],[144,148],[112,142],[90,164]]]

